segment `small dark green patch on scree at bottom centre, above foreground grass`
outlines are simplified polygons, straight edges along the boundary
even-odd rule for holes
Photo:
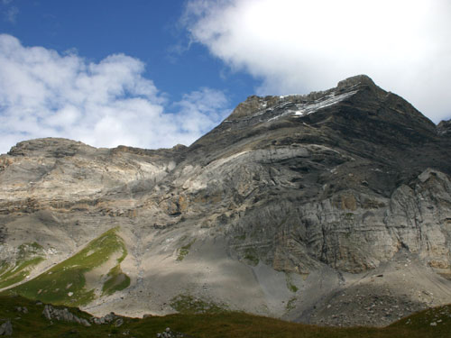
[[[218,305],[190,295],[172,298],[170,306],[180,314],[218,314],[227,311],[226,305]]]

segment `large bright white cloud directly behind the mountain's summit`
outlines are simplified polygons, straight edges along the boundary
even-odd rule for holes
[[[447,0],[191,0],[182,22],[232,69],[261,78],[260,95],[364,73],[434,122],[451,117]]]

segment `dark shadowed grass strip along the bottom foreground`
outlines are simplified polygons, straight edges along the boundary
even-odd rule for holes
[[[19,313],[16,306],[26,306],[27,314]],[[42,315],[43,305],[23,297],[0,296],[0,318],[9,318],[16,337],[155,337],[166,327],[198,338],[437,338],[451,337],[451,306],[411,315],[385,328],[334,328],[288,323],[244,313],[225,312],[206,315],[166,315],[144,319],[124,318],[121,327],[113,324],[85,327],[79,324],[54,322]],[[80,317],[89,315],[71,308]],[[431,325],[436,323],[436,325]]]

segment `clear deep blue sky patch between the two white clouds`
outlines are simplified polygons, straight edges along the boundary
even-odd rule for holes
[[[231,87],[234,96],[252,94],[253,78],[233,74],[205,46],[189,43],[179,23],[186,1],[11,0],[6,4],[4,1],[0,32],[13,35],[24,46],[42,46],[60,53],[73,50],[94,62],[124,53],[143,61],[143,75],[152,78],[172,100],[206,86]],[[14,7],[13,22],[5,20],[5,12]],[[221,73],[227,74],[227,80]],[[237,96],[235,101],[239,102],[246,94]]]

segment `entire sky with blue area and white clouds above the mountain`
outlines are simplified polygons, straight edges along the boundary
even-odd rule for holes
[[[189,145],[247,96],[366,74],[451,118],[448,0],[0,0],[0,153]]]

